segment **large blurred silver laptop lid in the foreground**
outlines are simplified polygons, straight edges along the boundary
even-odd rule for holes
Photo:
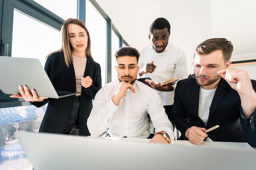
[[[223,148],[217,143],[168,145],[148,143],[147,139],[19,131],[15,136],[35,170],[254,170],[256,167],[253,148]]]

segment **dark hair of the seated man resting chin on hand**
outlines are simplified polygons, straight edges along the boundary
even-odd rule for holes
[[[136,57],[137,58],[137,63],[139,60],[139,51],[131,46],[125,46],[125,47],[121,47],[117,50],[117,52],[115,53],[115,57],[116,59],[118,57],[122,57],[122,56],[131,56],[131,57]]]

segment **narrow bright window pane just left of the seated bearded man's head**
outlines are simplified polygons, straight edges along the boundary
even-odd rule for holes
[[[111,30],[111,63],[112,63],[112,80],[117,79],[117,71],[115,69],[115,66],[117,65],[117,60],[115,58],[115,53],[119,49],[119,38],[117,37],[117,34]]]

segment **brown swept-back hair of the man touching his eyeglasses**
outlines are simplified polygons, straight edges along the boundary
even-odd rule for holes
[[[226,38],[211,38],[199,44],[195,48],[194,53],[198,55],[207,55],[216,50],[221,50],[224,59],[229,60],[233,52],[233,44]]]

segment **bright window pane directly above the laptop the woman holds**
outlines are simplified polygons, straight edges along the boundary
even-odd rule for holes
[[[14,10],[12,57],[38,58],[45,66],[45,57],[60,48],[60,31]]]

